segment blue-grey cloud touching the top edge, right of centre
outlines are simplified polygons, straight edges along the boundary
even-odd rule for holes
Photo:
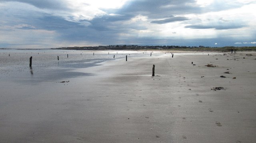
[[[136,0],[128,2],[118,14],[141,14],[148,18],[167,18],[170,15],[200,13],[195,0]]]

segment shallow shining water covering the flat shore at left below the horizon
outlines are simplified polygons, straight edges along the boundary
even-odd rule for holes
[[[154,52],[154,56],[160,54],[162,53]],[[35,84],[43,81],[56,82],[77,76],[90,76],[91,73],[72,70],[98,66],[101,62],[122,59],[126,55],[128,58],[148,57],[150,52],[0,49],[0,79]],[[32,57],[32,67],[29,67],[30,57]]]

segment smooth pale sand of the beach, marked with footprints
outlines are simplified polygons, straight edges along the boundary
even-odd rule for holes
[[[119,59],[29,88],[1,81],[0,143],[254,143],[256,53],[226,54]]]

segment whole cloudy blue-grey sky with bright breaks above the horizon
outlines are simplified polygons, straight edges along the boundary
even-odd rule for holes
[[[0,0],[0,48],[256,46],[256,0]]]

